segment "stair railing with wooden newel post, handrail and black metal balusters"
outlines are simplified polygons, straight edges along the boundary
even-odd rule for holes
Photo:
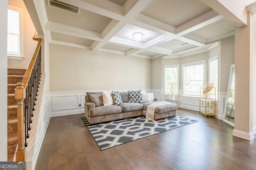
[[[37,38],[36,49],[28,65],[22,82],[17,83],[15,89],[15,99],[18,102],[18,150],[16,161],[22,162],[26,158],[27,138],[31,129],[34,106],[38,87],[41,78],[41,43],[42,39]]]

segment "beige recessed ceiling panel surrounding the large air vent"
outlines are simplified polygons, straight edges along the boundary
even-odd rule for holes
[[[112,20],[111,18],[80,9],[79,14],[74,14],[59,8],[48,6],[45,0],[46,13],[49,21],[102,33]]]

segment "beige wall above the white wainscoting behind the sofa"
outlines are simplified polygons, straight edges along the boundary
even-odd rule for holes
[[[50,91],[151,88],[151,59],[50,44]]]

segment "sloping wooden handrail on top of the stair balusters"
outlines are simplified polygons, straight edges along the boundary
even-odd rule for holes
[[[22,83],[24,84],[24,89],[26,89],[26,87],[28,86],[28,81],[29,81],[29,78],[31,76],[34,64],[36,62],[36,57],[38,55],[41,44],[42,44],[42,38],[38,38],[38,43],[37,43],[36,49],[34,51],[33,57],[30,60],[30,63],[28,65],[28,69],[26,70],[26,73],[25,73],[24,78],[22,80]]]

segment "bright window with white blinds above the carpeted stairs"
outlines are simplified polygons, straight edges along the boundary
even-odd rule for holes
[[[7,54],[20,56],[20,11],[8,9]]]

